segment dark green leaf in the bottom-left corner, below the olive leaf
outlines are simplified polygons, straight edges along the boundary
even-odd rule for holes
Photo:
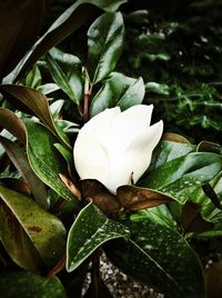
[[[0,292],[4,298],[67,298],[57,277],[46,278],[21,270],[0,274]]]

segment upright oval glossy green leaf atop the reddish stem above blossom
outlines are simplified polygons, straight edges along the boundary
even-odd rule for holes
[[[90,27],[89,73],[93,85],[104,79],[115,68],[122,51],[123,34],[123,18],[120,12],[107,12]]]

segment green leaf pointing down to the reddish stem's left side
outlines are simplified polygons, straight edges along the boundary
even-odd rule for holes
[[[79,105],[83,93],[82,64],[78,57],[53,48],[46,56],[54,82]]]

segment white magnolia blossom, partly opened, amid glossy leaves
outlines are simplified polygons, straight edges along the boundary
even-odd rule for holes
[[[134,183],[148,169],[163,131],[162,120],[150,126],[153,106],[121,112],[107,109],[88,121],[74,143],[74,165],[81,179],[97,179],[110,191]]]

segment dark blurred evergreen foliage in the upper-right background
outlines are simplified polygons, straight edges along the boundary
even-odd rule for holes
[[[155,103],[169,129],[220,142],[221,1],[174,0],[170,8],[164,0],[139,1],[137,8],[125,18],[119,69],[143,77],[147,101]]]

